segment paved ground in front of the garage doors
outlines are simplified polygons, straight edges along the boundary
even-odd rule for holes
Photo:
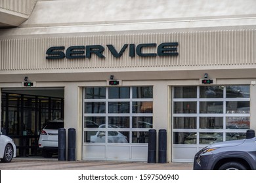
[[[0,170],[192,170],[192,163],[134,161],[58,161],[58,158],[14,158],[0,163]]]

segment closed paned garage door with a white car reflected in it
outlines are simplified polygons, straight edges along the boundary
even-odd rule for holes
[[[152,86],[84,88],[83,115],[83,159],[147,161]]]

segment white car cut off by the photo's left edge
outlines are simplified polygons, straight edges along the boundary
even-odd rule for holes
[[[9,163],[16,157],[16,145],[10,137],[0,132],[0,159],[2,162]]]

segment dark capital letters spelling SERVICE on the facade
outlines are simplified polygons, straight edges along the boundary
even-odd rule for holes
[[[53,46],[47,49],[46,59],[85,59],[91,58],[93,54],[98,58],[105,58],[104,54],[106,49],[114,56],[114,58],[121,58],[125,50],[128,50],[129,57],[157,57],[157,56],[179,56],[177,47],[179,42],[163,42],[161,44],[156,43],[144,43],[144,44],[123,44],[121,50],[116,50],[112,44],[107,44],[105,47],[102,45],[87,45],[87,46]],[[144,53],[146,48],[156,48],[156,52]]]

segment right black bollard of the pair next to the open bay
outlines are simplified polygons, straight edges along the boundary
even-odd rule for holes
[[[75,129],[68,129],[68,161],[75,161]]]

